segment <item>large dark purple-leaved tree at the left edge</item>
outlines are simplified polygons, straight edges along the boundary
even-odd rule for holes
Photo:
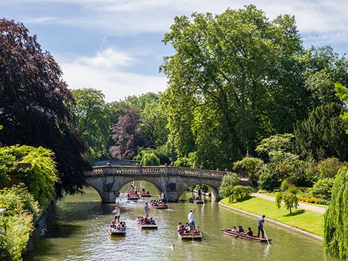
[[[72,129],[73,97],[61,68],[21,23],[0,19],[0,50],[0,142],[51,149],[57,196],[81,191],[90,166],[84,140]]]

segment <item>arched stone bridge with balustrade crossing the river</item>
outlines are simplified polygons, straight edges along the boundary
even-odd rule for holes
[[[177,202],[184,191],[197,184],[209,187],[216,199],[221,180],[229,173],[173,166],[95,166],[85,175],[88,186],[100,194],[103,203],[115,203],[118,191],[135,180],[154,184],[159,195],[166,192],[168,202]]]

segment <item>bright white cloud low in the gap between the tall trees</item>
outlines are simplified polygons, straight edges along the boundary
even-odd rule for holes
[[[111,53],[111,56],[107,54]],[[116,62],[117,58],[123,60]],[[124,100],[129,95],[142,95],[148,92],[159,93],[166,89],[166,77],[159,74],[158,77],[122,72],[122,66],[128,65],[133,58],[125,54],[113,52],[111,49],[98,52],[94,57],[77,58],[68,61],[64,58],[56,58],[63,70],[63,79],[70,89],[95,88],[102,90],[106,102]]]

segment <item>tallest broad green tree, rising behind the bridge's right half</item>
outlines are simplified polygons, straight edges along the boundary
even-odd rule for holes
[[[193,13],[175,17],[163,42],[175,49],[160,70],[169,79],[164,104],[179,157],[196,151],[203,166],[222,168],[303,118],[308,93],[294,17],[269,21],[252,5]]]

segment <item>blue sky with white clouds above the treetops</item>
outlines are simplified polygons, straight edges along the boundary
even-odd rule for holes
[[[2,0],[0,17],[22,22],[54,56],[70,89],[101,90],[106,102],[167,88],[162,42],[175,16],[221,14],[249,4],[269,20],[294,15],[306,48],[348,53],[347,0]],[[346,57],[347,58],[347,57]]]

